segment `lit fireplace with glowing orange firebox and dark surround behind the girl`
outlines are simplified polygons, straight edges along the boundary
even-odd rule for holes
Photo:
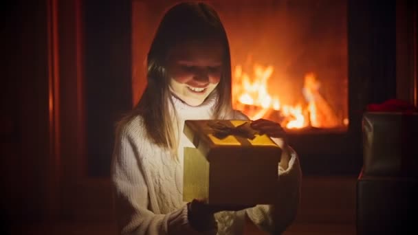
[[[85,8],[87,168],[94,176],[109,175],[114,123],[140,99],[148,47],[176,2],[126,1]],[[358,174],[364,107],[399,97],[413,83],[397,91],[395,65],[416,61],[397,55],[397,18],[416,15],[413,8],[397,13],[398,2],[208,1],[230,39],[234,107],[285,126],[305,175]],[[403,51],[415,48],[416,56],[416,40],[407,44]],[[106,109],[97,109],[103,103]]]

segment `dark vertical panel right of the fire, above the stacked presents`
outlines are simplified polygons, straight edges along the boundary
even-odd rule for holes
[[[396,98],[396,1],[349,1],[351,102]]]

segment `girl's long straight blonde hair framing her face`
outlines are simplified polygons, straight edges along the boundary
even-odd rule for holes
[[[166,70],[168,51],[184,42],[219,40],[224,49],[222,75],[217,88],[214,119],[223,119],[232,111],[230,47],[225,29],[215,12],[205,3],[179,3],[164,15],[147,57],[147,85],[140,101],[122,119],[121,124],[140,115],[146,133],[155,144],[177,153],[179,135]],[[173,109],[170,109],[170,106]],[[174,113],[170,113],[173,110]],[[173,115],[174,114],[174,115]]]

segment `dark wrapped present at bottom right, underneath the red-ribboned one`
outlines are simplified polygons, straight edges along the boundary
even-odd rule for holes
[[[357,181],[357,234],[418,234],[418,179],[371,177]],[[415,231],[415,232],[412,232]]]

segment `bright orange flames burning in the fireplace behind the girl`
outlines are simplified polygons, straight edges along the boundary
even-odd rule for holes
[[[273,71],[272,66],[255,64],[254,76],[250,77],[241,65],[237,65],[232,79],[234,108],[243,111],[252,120],[273,116],[286,128],[331,128],[339,125],[335,113],[320,95],[320,82],[314,73],[305,75],[302,93],[307,105],[304,107],[303,104],[282,104],[278,96],[269,93],[267,81]]]

